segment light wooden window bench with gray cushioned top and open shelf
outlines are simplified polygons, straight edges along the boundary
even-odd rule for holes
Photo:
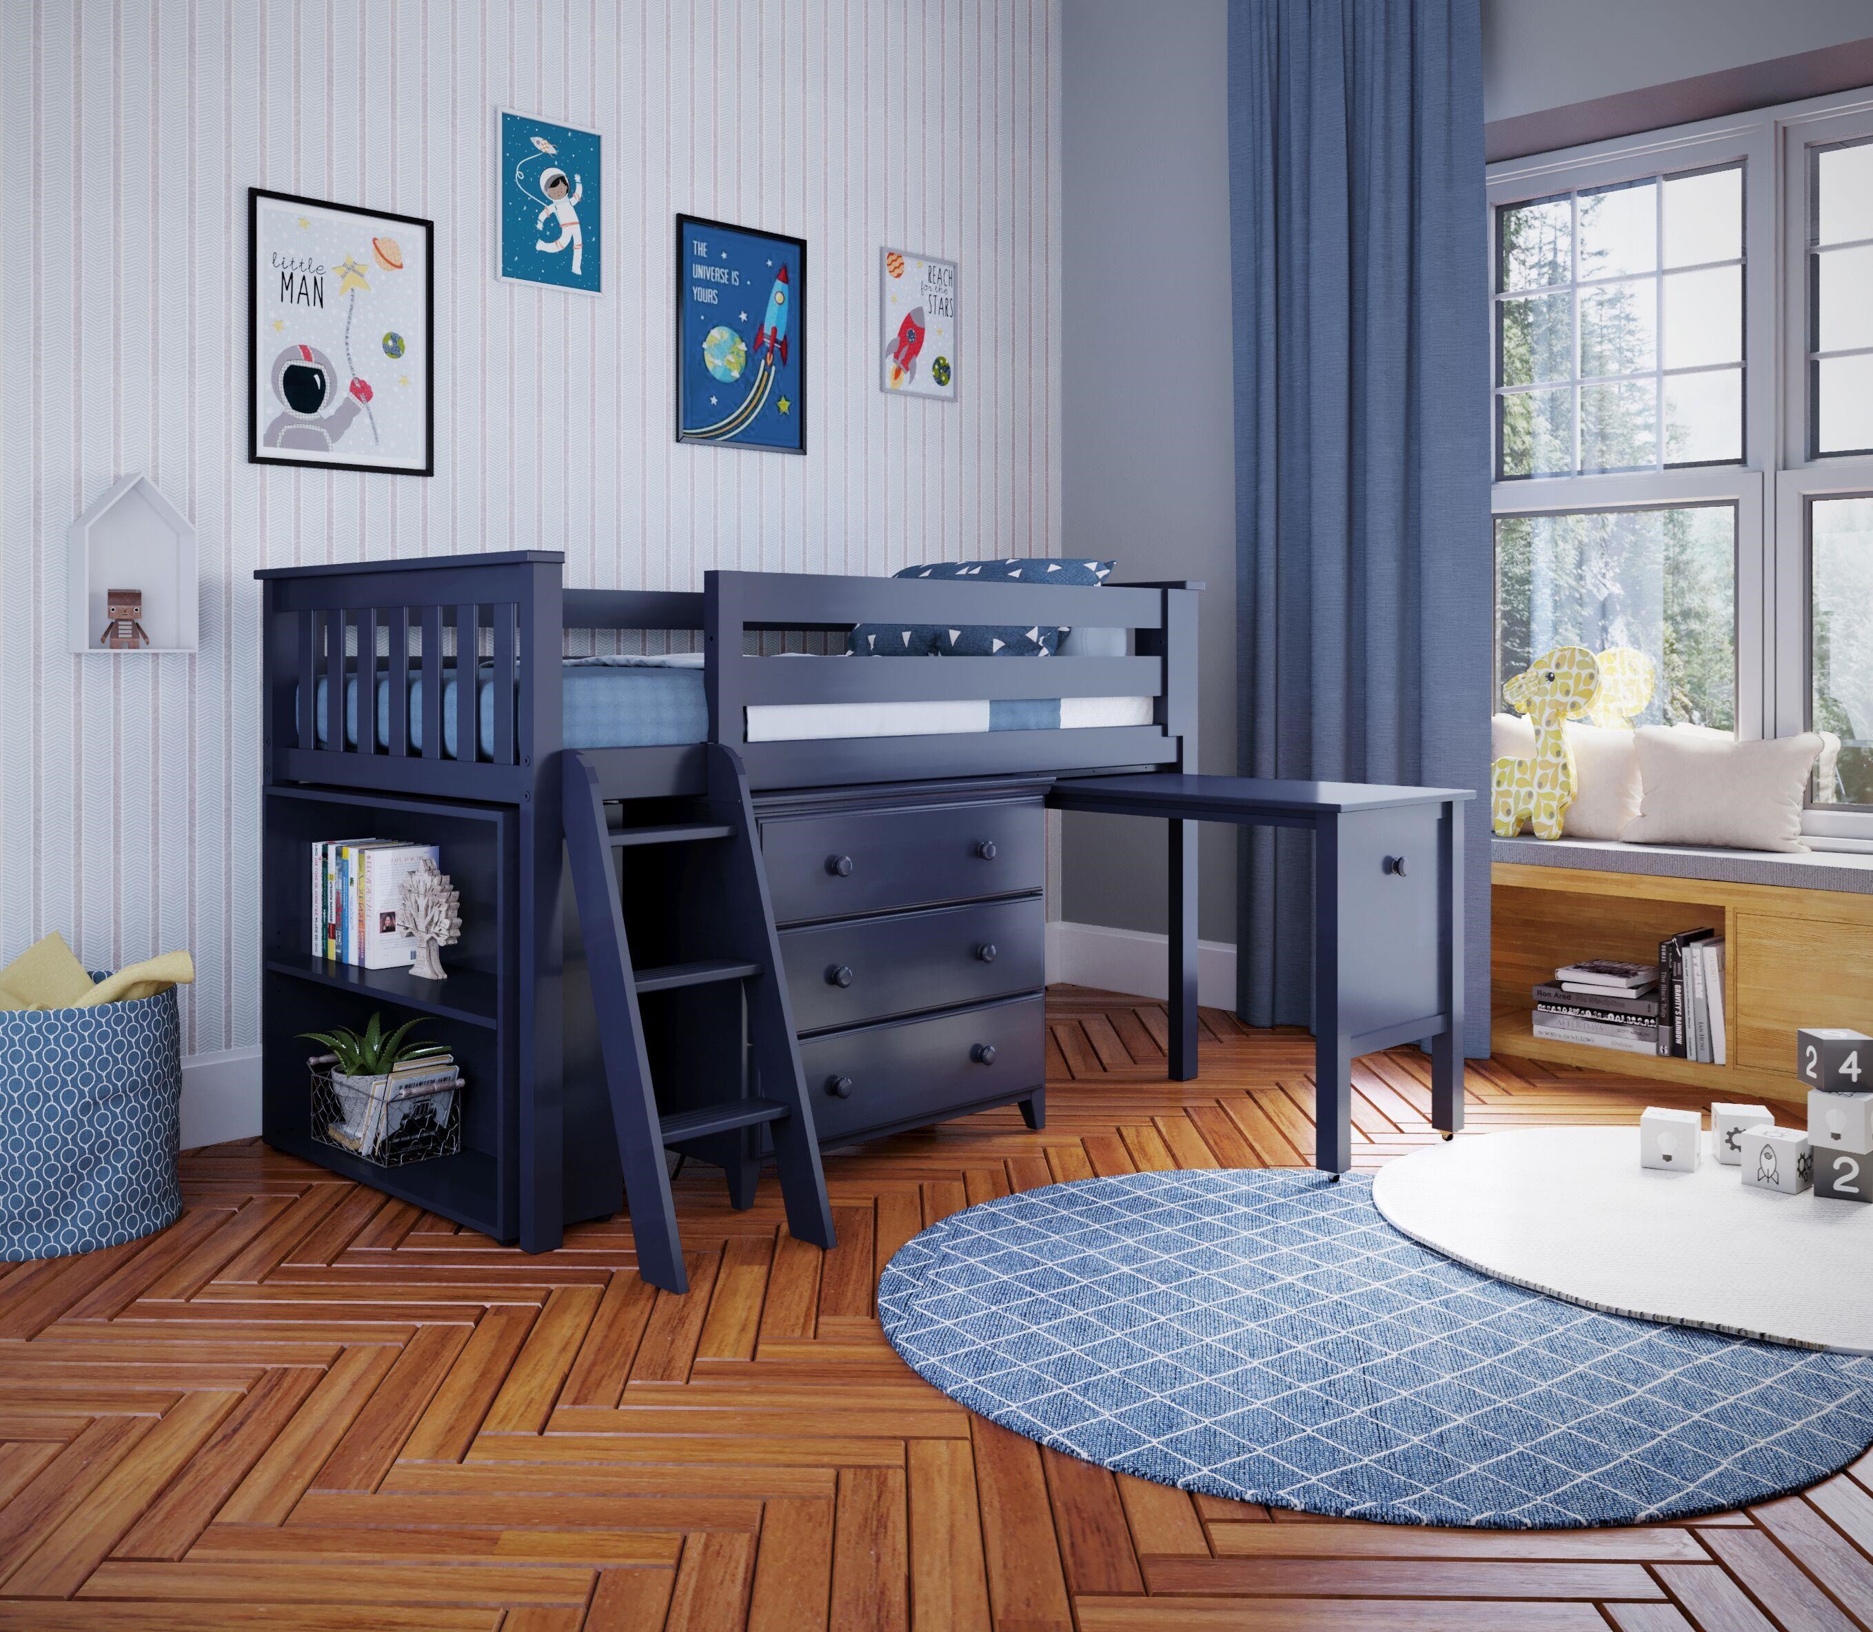
[[[1794,1032],[1873,1031],[1873,856],[1757,854],[1562,839],[1495,839],[1491,1047],[1721,1100],[1804,1100]],[[1530,1031],[1530,987],[1581,957],[1658,957],[1658,942],[1712,927],[1729,942],[1729,1064],[1628,1055]]]

